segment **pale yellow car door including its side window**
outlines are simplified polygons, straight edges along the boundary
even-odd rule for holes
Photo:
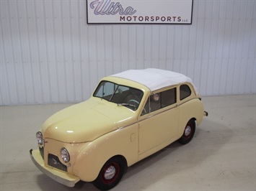
[[[142,158],[175,139],[178,126],[176,88],[150,95],[138,121],[139,155]]]

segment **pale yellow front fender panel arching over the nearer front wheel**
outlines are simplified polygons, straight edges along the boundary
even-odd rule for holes
[[[85,182],[94,181],[108,159],[121,155],[131,166],[138,162],[138,124],[100,136],[76,158],[73,172]]]

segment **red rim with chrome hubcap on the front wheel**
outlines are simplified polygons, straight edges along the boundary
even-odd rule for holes
[[[102,171],[102,182],[105,185],[111,185],[115,180],[118,179],[120,173],[120,166],[117,162],[107,164]]]

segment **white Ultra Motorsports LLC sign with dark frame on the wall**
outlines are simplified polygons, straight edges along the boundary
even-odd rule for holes
[[[191,24],[193,0],[87,0],[88,24]]]

